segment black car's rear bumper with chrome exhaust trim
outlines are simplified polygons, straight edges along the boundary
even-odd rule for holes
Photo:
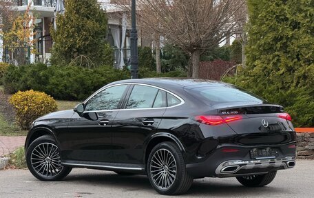
[[[275,170],[284,170],[295,166],[295,143],[273,146],[238,146],[227,145],[217,148],[198,163],[187,164],[189,174],[195,178],[202,177],[238,177],[244,175],[260,175]],[[253,148],[276,148],[277,157],[252,159]],[[224,152],[234,149],[238,152]]]

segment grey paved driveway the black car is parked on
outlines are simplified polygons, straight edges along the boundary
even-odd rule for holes
[[[264,188],[245,188],[234,178],[196,179],[182,197],[314,197],[314,161],[299,160],[291,170],[278,172]],[[181,197],[180,196],[180,197]],[[1,170],[0,197],[163,197],[147,177],[76,168],[64,181],[43,182],[28,170]]]

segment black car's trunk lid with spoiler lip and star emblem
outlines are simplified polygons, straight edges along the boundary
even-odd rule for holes
[[[282,106],[273,104],[246,104],[226,106],[220,103],[218,115],[240,115],[242,119],[227,124],[237,133],[234,142],[242,145],[274,145],[295,141],[295,132],[291,121],[280,115]]]

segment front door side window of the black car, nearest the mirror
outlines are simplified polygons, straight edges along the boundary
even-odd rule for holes
[[[114,86],[98,92],[87,101],[85,110],[113,110],[118,108],[123,92],[127,85]]]

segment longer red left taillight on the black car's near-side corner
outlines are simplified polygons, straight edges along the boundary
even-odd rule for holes
[[[219,115],[198,115],[195,117],[196,121],[200,123],[205,123],[208,125],[220,125],[222,123],[228,123],[231,121],[236,121],[242,119],[240,115],[228,115],[228,116],[219,116]]]

